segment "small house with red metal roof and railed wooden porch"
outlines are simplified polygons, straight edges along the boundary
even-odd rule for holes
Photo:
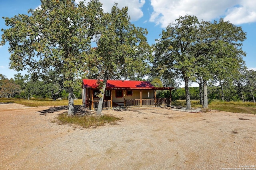
[[[103,80],[101,80],[103,81]],[[83,106],[90,109],[98,107],[99,87],[98,80],[83,79]],[[124,107],[145,107],[145,106],[161,106],[170,105],[170,98],[156,98],[156,90],[172,90],[173,88],[163,87],[156,88],[150,82],[132,81],[132,80],[107,80],[104,108],[112,108],[114,106]],[[170,93],[171,94],[171,93]]]

